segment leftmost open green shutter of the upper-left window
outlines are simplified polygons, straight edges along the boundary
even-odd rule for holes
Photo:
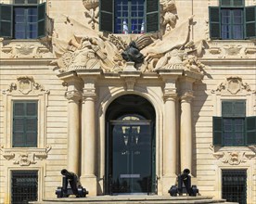
[[[0,36],[12,38],[12,5],[0,4]]]

